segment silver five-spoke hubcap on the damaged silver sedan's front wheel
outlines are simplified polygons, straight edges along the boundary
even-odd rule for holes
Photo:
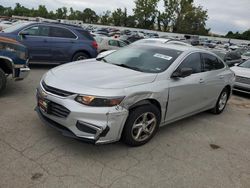
[[[144,141],[148,139],[155,130],[156,117],[151,112],[146,112],[139,116],[132,127],[132,137],[135,141]]]

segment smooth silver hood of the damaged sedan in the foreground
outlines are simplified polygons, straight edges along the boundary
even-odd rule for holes
[[[156,76],[91,59],[56,67],[44,79],[52,87],[79,91],[83,88],[123,89],[153,82]]]

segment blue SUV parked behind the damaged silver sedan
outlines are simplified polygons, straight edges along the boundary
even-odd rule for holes
[[[23,22],[3,30],[0,36],[25,45],[32,62],[66,63],[97,56],[95,39],[79,26]]]

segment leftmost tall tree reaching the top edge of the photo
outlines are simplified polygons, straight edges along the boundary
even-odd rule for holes
[[[154,29],[158,2],[159,0],[135,0],[135,9],[133,11],[138,27]]]

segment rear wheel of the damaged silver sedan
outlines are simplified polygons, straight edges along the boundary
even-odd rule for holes
[[[217,100],[215,107],[212,109],[212,112],[214,114],[222,113],[227,105],[228,99],[229,99],[229,90],[227,88],[224,88]]]

